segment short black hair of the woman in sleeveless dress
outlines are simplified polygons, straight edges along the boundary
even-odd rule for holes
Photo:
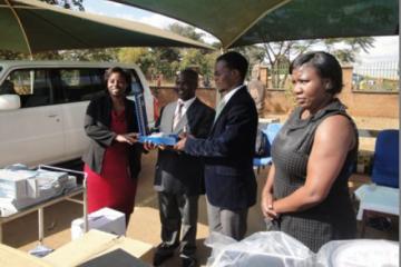
[[[334,56],[323,51],[300,55],[290,65],[290,73],[294,69],[306,65],[314,68],[321,78],[330,80],[326,88],[329,93],[336,95],[341,92],[343,87],[342,69]]]

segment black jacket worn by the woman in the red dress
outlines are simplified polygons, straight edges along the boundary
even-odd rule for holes
[[[90,138],[90,142],[82,156],[82,160],[97,174],[101,172],[106,149],[113,145],[117,136],[110,129],[111,110],[111,98],[109,95],[105,95],[90,101],[85,116],[85,131]],[[126,99],[125,117],[127,132],[138,132],[138,122],[135,113],[134,101]],[[128,148],[129,170],[134,179],[137,178],[140,171],[141,152],[143,146],[140,144],[134,144]]]

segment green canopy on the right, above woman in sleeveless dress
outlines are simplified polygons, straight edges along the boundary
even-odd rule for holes
[[[185,21],[224,48],[399,32],[398,0],[114,0]]]

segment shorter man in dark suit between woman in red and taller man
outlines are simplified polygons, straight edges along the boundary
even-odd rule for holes
[[[178,100],[168,103],[156,126],[164,134],[186,131],[206,138],[214,119],[214,110],[195,97],[198,75],[183,70],[176,80]],[[197,202],[204,190],[204,162],[202,159],[159,149],[156,164],[155,189],[158,191],[162,221],[162,244],[157,247],[154,265],[160,265],[179,245],[183,266],[195,266]]]

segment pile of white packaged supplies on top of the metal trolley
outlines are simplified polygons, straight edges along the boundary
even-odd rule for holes
[[[23,165],[0,169],[0,216],[8,216],[75,188],[77,178],[65,171],[30,170]]]

